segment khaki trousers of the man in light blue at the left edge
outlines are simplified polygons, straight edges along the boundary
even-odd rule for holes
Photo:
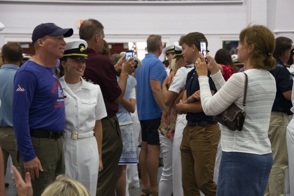
[[[0,146],[2,148],[4,160],[4,175],[6,174],[7,161],[11,156],[13,165],[19,170],[19,164],[16,161],[16,143],[13,127],[0,127]]]

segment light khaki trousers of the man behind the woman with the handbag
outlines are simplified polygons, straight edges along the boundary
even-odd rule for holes
[[[270,127],[268,138],[270,139],[273,167],[270,171],[268,185],[265,188],[265,196],[283,196],[285,169],[288,166],[288,151],[286,131],[289,124],[288,115],[283,112],[270,113]]]

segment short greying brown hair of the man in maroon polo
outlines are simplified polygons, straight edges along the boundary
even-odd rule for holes
[[[94,35],[99,36],[103,33],[103,25],[96,19],[88,19],[83,21],[78,32],[80,39],[88,41],[93,38]]]

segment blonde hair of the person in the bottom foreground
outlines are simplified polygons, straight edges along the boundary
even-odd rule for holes
[[[41,196],[90,196],[89,191],[80,182],[59,175]]]

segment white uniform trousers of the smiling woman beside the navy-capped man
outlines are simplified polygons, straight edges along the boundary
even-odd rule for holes
[[[91,196],[96,196],[99,154],[95,137],[62,138],[65,176],[84,185]]]

